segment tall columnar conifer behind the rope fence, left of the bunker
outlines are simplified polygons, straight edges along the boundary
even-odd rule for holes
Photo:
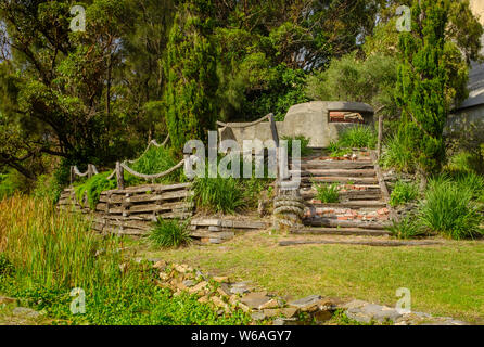
[[[176,17],[167,47],[166,123],[176,153],[188,140],[206,140],[217,118],[214,98],[218,87],[216,50],[208,40],[209,21],[195,7]]]

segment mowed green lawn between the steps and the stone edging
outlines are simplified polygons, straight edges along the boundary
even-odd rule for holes
[[[176,250],[141,245],[141,255],[187,262],[293,298],[319,294],[394,306],[395,291],[406,287],[413,311],[484,323],[483,241],[415,247],[281,247],[280,239],[259,232],[222,245]]]

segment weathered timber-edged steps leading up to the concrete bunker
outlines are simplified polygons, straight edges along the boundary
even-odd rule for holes
[[[305,228],[292,230],[292,233],[387,235],[385,228],[391,224],[391,211],[384,196],[387,192],[382,192],[373,163],[370,153],[362,151],[340,158],[321,153],[302,158],[300,192],[307,206],[303,218]],[[315,184],[319,183],[337,184],[340,202],[324,204],[318,201]]]

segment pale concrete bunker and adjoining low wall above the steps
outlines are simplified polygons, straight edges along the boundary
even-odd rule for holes
[[[347,111],[360,113],[365,124],[373,125],[373,108],[357,102],[313,101],[292,106],[284,121],[277,121],[279,137],[305,136],[310,139],[309,146],[327,147],[331,141],[337,141],[342,130],[356,126],[355,124],[329,123],[330,111]],[[239,123],[237,125],[244,125]],[[229,124],[230,126],[230,124]],[[268,121],[247,128],[228,128],[220,132],[220,139],[233,139],[243,144],[243,140],[271,140],[272,134]]]

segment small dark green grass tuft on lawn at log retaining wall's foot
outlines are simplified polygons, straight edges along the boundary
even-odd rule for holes
[[[163,248],[178,248],[192,242],[187,222],[181,223],[179,220],[164,220],[161,218],[150,233],[149,239],[156,247]]]

